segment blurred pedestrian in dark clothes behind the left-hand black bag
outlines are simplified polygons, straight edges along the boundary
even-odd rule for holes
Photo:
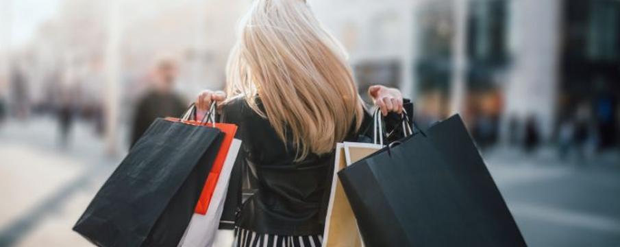
[[[177,117],[187,102],[173,91],[178,65],[173,58],[160,58],[153,69],[153,80],[147,92],[138,99],[132,124],[131,147],[158,117]]]

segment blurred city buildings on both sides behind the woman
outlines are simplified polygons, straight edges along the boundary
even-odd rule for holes
[[[112,2],[119,9],[114,28]],[[121,106],[132,104],[160,54],[181,62],[177,87],[186,95],[221,89],[236,20],[250,4],[62,1],[58,17],[42,25],[31,43],[12,50],[10,66],[3,65],[20,75],[20,86],[5,83],[0,89],[14,96],[23,88],[22,101],[39,108],[69,95],[87,112],[97,113],[108,100],[103,92],[110,82],[118,84]],[[527,126],[535,126],[541,141],[552,141],[562,124],[584,121],[580,125],[595,133],[601,146],[618,143],[620,0],[308,4],[349,51],[362,95],[371,84],[386,84],[416,99],[419,113],[429,118],[458,110],[480,143],[519,143]],[[6,39],[3,30],[0,36]],[[112,31],[119,36],[114,49],[118,75],[110,74]],[[461,83],[464,90],[455,90]],[[126,108],[121,107],[121,119]]]

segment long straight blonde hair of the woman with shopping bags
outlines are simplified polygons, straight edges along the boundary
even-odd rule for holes
[[[290,135],[296,161],[332,152],[363,117],[345,50],[303,0],[254,1],[230,54],[227,93],[245,95],[283,141]]]

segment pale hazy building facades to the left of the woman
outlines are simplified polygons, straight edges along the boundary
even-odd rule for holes
[[[0,50],[7,58],[0,67],[8,67],[2,74],[9,78],[0,79],[0,95],[8,91],[11,115],[22,118],[31,112],[56,114],[69,105],[69,112],[106,134],[106,150],[114,154],[119,126],[131,120],[134,103],[153,83],[156,60],[179,62],[175,86],[188,103],[198,91],[223,89],[236,20],[250,3],[60,1],[58,14],[40,25],[29,42]],[[3,26],[0,36],[10,40],[6,33],[10,30]]]

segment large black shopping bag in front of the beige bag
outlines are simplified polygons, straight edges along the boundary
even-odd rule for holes
[[[338,176],[368,247],[526,246],[458,115]]]

